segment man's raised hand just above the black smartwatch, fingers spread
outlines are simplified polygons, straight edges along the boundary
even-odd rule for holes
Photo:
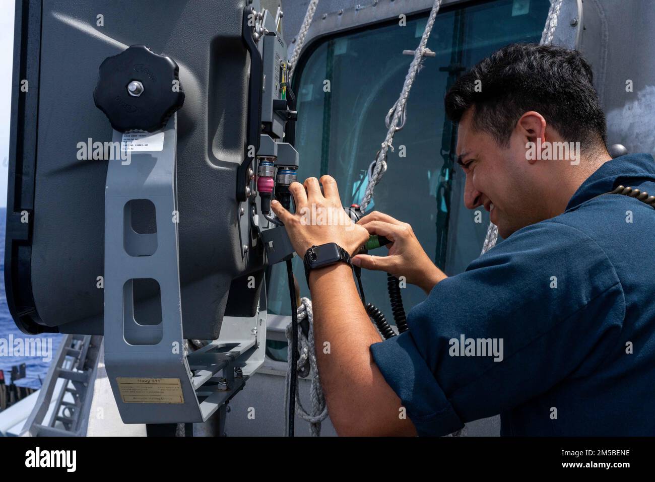
[[[271,209],[284,223],[293,249],[303,257],[312,246],[337,243],[351,255],[369,237],[368,231],[352,222],[343,210],[337,183],[331,176],[320,179],[324,194],[316,177],[305,179],[303,186],[299,182],[291,183],[290,193],[295,203],[295,214],[291,214],[282,204],[273,200]]]

